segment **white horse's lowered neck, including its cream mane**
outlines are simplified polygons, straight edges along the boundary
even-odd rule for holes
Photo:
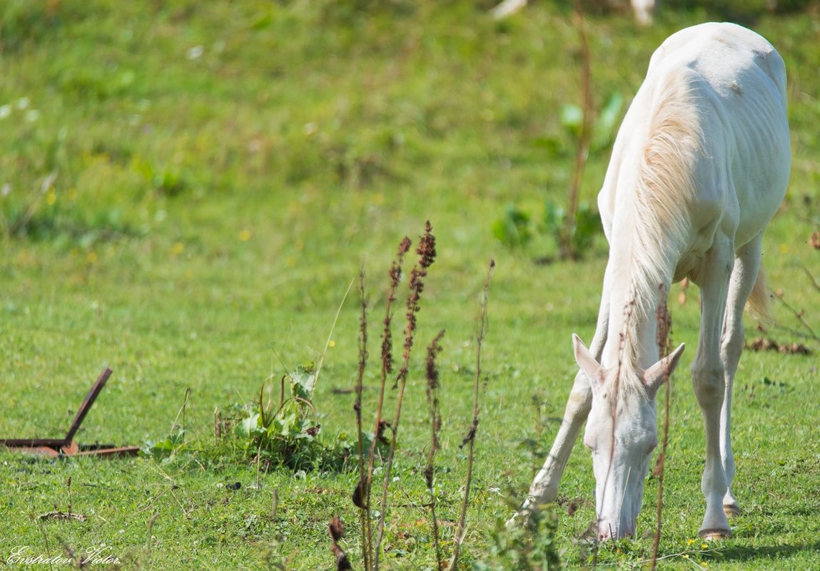
[[[611,291],[604,293],[609,323],[602,365],[625,369],[632,378],[658,360],[656,313],[690,243],[693,168],[702,154],[690,73],[681,70],[660,79],[654,95],[643,87],[639,91],[647,102],[651,98],[651,110],[631,123],[623,154],[613,151],[617,174],[610,181],[615,187],[607,191],[613,204],[607,270],[612,274]]]

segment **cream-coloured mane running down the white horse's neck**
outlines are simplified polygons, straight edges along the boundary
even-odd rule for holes
[[[666,300],[689,232],[688,208],[696,192],[694,166],[703,138],[693,80],[693,70],[673,70],[656,84],[649,110],[634,186],[631,281],[619,340],[617,378],[626,390],[645,390],[637,329],[647,319],[657,319],[655,308]]]

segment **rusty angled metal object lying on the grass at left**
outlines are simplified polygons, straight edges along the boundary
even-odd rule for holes
[[[91,386],[89,394],[87,394],[77,410],[74,417],[74,422],[71,423],[71,428],[68,429],[65,437],[62,438],[0,438],[0,446],[13,448],[17,451],[28,452],[30,454],[45,455],[49,457],[58,456],[125,456],[136,455],[139,452],[139,446],[113,446],[111,444],[90,444],[80,445],[74,442],[74,436],[80,430],[80,424],[83,424],[85,415],[89,414],[89,409],[97,400],[100,391],[105,387],[105,383],[111,377],[112,370],[106,369],[103,374]]]

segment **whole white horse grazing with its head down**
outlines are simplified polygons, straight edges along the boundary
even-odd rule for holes
[[[706,512],[699,536],[731,533],[731,386],[746,301],[763,310],[763,230],[789,180],[786,70],[758,34],[703,24],[669,37],[649,61],[598,197],[609,260],[594,337],[573,336],[579,372],[563,422],[522,513],[553,501],[586,420],[598,537],[635,534],[658,443],[655,394],[680,359],[660,359],[656,311],[688,277],[701,295],[692,384],[703,412]]]

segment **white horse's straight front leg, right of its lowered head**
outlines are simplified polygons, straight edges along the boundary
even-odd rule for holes
[[[701,306],[700,336],[692,364],[692,384],[704,415],[706,437],[706,465],[700,483],[706,499],[706,513],[698,532],[699,537],[704,539],[722,539],[731,535],[729,521],[723,511],[728,478],[721,457],[721,415],[727,383],[721,339],[733,265],[731,240],[717,237],[695,281],[700,288]]]

